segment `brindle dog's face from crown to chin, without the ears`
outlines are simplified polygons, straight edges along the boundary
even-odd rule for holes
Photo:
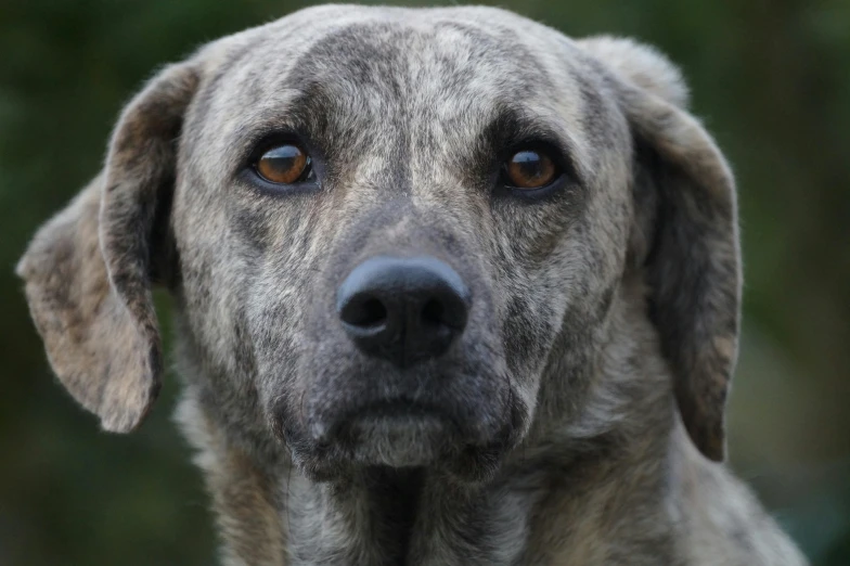
[[[189,325],[311,468],[493,460],[622,270],[628,128],[579,48],[402,14],[258,34],[183,126]]]

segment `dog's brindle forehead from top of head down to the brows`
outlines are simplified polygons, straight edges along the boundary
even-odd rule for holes
[[[321,7],[230,38],[211,97],[229,116],[268,115],[317,92],[365,118],[392,104],[432,119],[500,103],[545,107],[579,90],[566,41],[495,9]]]

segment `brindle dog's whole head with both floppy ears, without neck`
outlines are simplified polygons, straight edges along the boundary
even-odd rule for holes
[[[301,11],[162,70],[18,272],[106,429],[156,397],[163,284],[202,398],[315,477],[486,476],[546,380],[579,402],[641,280],[683,421],[721,460],[734,188],[685,98],[645,47],[500,10]]]

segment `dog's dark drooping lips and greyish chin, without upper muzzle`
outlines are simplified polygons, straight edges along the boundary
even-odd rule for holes
[[[484,397],[472,406],[460,391],[440,393],[446,395],[362,402],[349,397],[348,402],[308,410],[301,419],[279,411],[275,434],[314,480],[374,466],[437,467],[468,481],[491,477],[521,434],[524,406],[505,407]]]

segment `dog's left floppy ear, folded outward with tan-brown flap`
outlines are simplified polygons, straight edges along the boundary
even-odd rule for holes
[[[166,276],[175,146],[197,83],[192,63],[173,65],[127,105],[101,175],[17,266],[53,370],[106,430],[136,428],[159,389],[151,282]]]

